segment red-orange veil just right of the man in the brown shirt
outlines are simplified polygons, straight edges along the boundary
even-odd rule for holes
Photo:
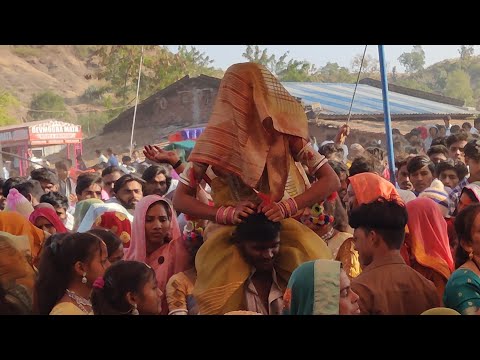
[[[428,198],[410,201],[406,207],[412,255],[420,265],[448,279],[455,270],[455,264],[443,214],[435,202]]]

